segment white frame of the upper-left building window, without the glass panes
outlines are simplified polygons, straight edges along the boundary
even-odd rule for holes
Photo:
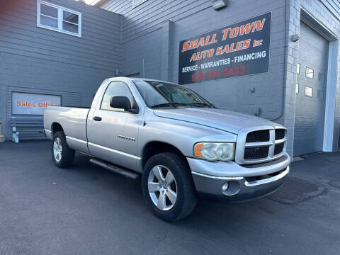
[[[44,14],[42,14],[40,12],[41,11],[41,4],[45,4],[46,6],[57,8],[57,11],[58,11],[58,18],[56,18],[57,19],[57,28],[53,28],[51,26],[43,25],[40,22],[40,16],[41,15],[45,16]],[[68,11],[69,13],[73,13],[73,14],[78,15],[78,33],[72,33],[72,32],[69,32],[67,30],[62,29],[62,24],[64,22],[64,11]],[[68,22],[68,21],[65,21],[65,22]],[[68,23],[70,23],[70,22],[68,22]],[[75,23],[71,23],[71,24],[77,25]],[[81,38],[81,13],[79,11],[74,11],[74,10],[71,10],[69,8],[58,6],[56,4],[51,4],[47,1],[37,0],[37,26],[38,26],[38,28],[46,28],[46,29],[49,29],[49,30],[53,30],[53,31],[60,32],[60,33],[65,33],[67,35],[74,35],[74,36]]]

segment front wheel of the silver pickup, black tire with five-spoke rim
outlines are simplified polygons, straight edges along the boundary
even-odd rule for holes
[[[174,181],[171,181],[172,177]],[[154,215],[169,222],[189,215],[197,203],[198,196],[191,171],[186,160],[179,154],[166,152],[151,157],[145,164],[142,190]]]

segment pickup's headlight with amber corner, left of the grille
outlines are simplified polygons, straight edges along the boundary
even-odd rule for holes
[[[193,147],[193,155],[209,161],[229,161],[234,159],[234,142],[198,142]]]

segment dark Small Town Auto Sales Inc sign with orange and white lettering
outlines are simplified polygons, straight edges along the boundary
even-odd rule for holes
[[[179,84],[268,72],[271,12],[179,44]]]

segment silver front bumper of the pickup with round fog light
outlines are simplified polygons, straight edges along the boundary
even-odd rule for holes
[[[237,202],[260,198],[280,188],[289,173],[290,157],[286,154],[273,162],[249,166],[200,159],[188,159],[188,163],[201,196]]]

